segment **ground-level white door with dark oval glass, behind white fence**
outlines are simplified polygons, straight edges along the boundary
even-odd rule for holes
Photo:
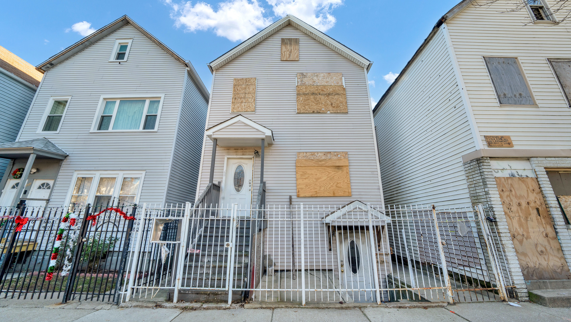
[[[359,291],[375,288],[373,278],[371,247],[368,245],[366,232],[343,231],[339,238],[343,242],[339,249],[341,287],[352,289],[347,291],[344,299],[347,302],[374,302],[375,292]]]

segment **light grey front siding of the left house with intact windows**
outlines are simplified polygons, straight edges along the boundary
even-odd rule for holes
[[[115,39],[133,39],[128,61],[109,62]],[[19,140],[45,136],[63,160],[50,206],[66,202],[74,171],[146,171],[140,200],[163,203],[186,67],[126,25],[46,72]],[[102,96],[164,94],[156,132],[90,132]],[[51,96],[70,95],[58,134],[36,134]]]

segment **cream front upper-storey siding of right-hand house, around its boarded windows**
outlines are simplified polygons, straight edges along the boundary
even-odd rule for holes
[[[524,25],[528,12],[505,12],[512,6],[468,5],[447,21],[481,144],[484,135],[509,135],[516,149],[569,148],[571,110],[547,60],[571,58],[568,26]],[[500,107],[482,57],[517,57],[538,107]]]

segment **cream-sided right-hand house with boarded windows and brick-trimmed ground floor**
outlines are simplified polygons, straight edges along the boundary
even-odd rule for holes
[[[571,31],[553,1],[478,3],[439,19],[373,109],[383,193],[485,204],[526,299],[571,279]]]

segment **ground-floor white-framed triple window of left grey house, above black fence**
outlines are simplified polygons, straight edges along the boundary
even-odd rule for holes
[[[73,208],[128,206],[139,201],[144,171],[75,171],[66,204]]]

